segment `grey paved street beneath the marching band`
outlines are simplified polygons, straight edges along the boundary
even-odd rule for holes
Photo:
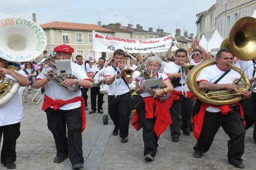
[[[31,99],[31,94],[29,95]],[[104,110],[107,109],[107,97]],[[52,133],[47,128],[46,115],[40,105],[31,100],[24,106],[26,119],[21,123],[21,135],[17,140],[17,170],[69,170],[70,161],[53,163],[56,154]],[[90,99],[88,100],[90,106]],[[90,108],[90,107],[89,107]],[[90,110],[89,110],[90,111]],[[105,113],[107,110],[105,111]],[[88,111],[87,111],[88,113]],[[180,136],[180,142],[171,142],[169,129],[161,136],[155,161],[143,159],[142,130],[131,125],[129,142],[121,143],[119,136],[112,136],[113,122],[103,125],[102,114],[87,114],[87,126],[83,133],[85,170],[234,170],[227,162],[228,136],[222,129],[215,136],[209,152],[201,159],[192,156],[195,139],[192,135]],[[256,144],[252,131],[245,138],[245,170],[256,169]],[[7,170],[0,165],[0,170]]]

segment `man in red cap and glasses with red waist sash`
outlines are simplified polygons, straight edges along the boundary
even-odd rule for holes
[[[70,45],[59,45],[54,48],[57,60],[70,59],[74,48]],[[92,83],[85,71],[77,64],[71,63],[71,69],[78,79],[65,79],[62,84],[71,86],[79,85],[83,88],[91,88]],[[51,76],[48,71],[48,76]],[[45,87],[43,110],[47,115],[47,125],[52,132],[57,148],[55,163],[60,163],[69,157],[73,168],[83,168],[84,158],[82,152],[82,134],[85,128],[85,105],[81,97],[81,91],[68,92],[49,81],[43,73],[39,74],[34,87]],[[66,130],[67,125],[67,130]],[[67,135],[66,135],[67,133]]]

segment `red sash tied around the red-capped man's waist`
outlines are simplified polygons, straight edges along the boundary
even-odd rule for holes
[[[81,96],[75,97],[70,100],[53,100],[49,96],[44,96],[44,104],[43,104],[43,111],[46,111],[47,108],[53,107],[53,110],[56,111],[58,110],[61,106],[68,104],[68,103],[74,103],[81,101],[81,119],[82,119],[82,127],[81,127],[81,132],[84,131],[85,125],[86,125],[86,114],[85,114],[85,102],[84,98]]]

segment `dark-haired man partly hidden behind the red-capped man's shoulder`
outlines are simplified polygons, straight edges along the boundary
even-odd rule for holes
[[[83,56],[82,55],[77,55],[76,56],[76,64],[81,65],[81,67],[83,68],[83,70],[87,73],[87,76],[92,79],[92,71],[90,68],[90,65],[86,62],[83,62]],[[81,93],[82,93],[82,97],[84,98],[85,101],[85,109],[88,110],[88,104],[87,104],[87,99],[88,99],[88,95],[87,95],[87,91],[89,89],[88,88],[81,88]]]

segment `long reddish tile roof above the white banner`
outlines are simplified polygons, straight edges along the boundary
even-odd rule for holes
[[[67,29],[67,30],[84,30],[84,31],[99,31],[99,32],[114,32],[108,28],[98,27],[94,24],[83,23],[67,23],[55,21],[52,23],[45,23],[40,25],[43,29]]]

